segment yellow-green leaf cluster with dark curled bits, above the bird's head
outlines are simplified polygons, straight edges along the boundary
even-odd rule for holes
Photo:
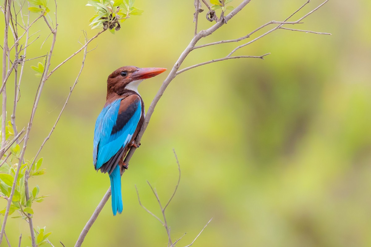
[[[93,0],[86,6],[94,7],[96,14],[89,20],[91,29],[108,29],[112,34],[118,31],[120,23],[131,15],[139,16],[143,10],[134,7],[135,0]]]

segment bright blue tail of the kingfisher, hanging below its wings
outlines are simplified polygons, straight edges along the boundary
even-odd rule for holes
[[[122,196],[121,196],[121,176],[120,167],[116,165],[115,169],[109,175],[111,180],[111,198],[112,198],[112,212],[114,216],[118,212],[122,213]]]

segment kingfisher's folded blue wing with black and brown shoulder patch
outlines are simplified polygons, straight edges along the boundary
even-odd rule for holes
[[[141,99],[136,94],[117,99],[103,108],[94,131],[93,163],[96,170],[109,163],[109,167],[102,171],[112,172],[133,137],[141,114]]]

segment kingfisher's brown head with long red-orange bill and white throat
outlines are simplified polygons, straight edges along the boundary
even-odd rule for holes
[[[164,68],[138,68],[135,66],[121,67],[108,76],[107,96],[111,93],[121,95],[127,90],[138,93],[138,86],[144,79],[161,74]]]

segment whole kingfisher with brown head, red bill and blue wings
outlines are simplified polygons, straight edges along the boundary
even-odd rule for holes
[[[135,143],[144,123],[144,102],[138,86],[167,69],[124,66],[107,79],[106,103],[96,119],[93,139],[93,164],[96,171],[108,173],[111,181],[112,212],[122,213],[121,171],[127,169],[124,157]]]

